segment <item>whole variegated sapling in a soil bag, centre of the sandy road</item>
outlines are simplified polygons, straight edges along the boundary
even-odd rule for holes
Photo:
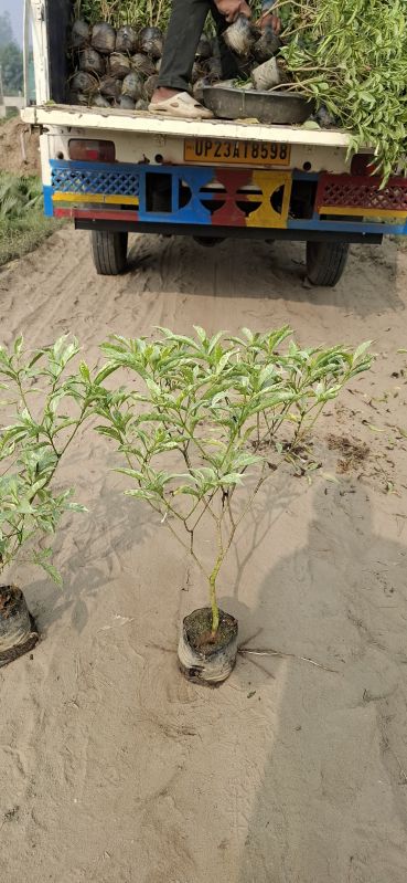
[[[239,526],[279,465],[298,466],[326,402],[371,364],[367,344],[304,349],[288,343],[288,327],[242,335],[162,328],[151,341],[115,336],[101,347],[104,378],[125,369],[135,382],[105,390],[97,431],[116,443],[125,493],[154,509],[206,581],[210,603],[185,618],[179,661],[208,683],[236,660],[237,621],[219,610],[217,584]]]

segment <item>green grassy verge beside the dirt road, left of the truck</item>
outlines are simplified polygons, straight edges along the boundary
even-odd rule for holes
[[[39,178],[0,171],[0,266],[33,251],[58,228],[43,212]]]

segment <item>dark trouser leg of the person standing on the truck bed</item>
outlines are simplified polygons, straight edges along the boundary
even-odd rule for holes
[[[159,90],[189,91],[196,48],[210,9],[211,0],[173,0]]]

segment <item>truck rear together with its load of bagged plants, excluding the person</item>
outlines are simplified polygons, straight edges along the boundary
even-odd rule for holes
[[[129,233],[156,232],[300,240],[310,282],[335,285],[350,243],[406,234],[401,0],[277,2],[279,35],[258,3],[250,23],[210,25],[191,72],[208,119],[148,109],[168,3],[29,6],[38,105],[23,118],[42,130],[45,211],[92,231],[98,273],[126,270]],[[223,83],[226,41],[240,74]]]

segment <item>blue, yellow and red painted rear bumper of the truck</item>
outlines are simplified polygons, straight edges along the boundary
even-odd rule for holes
[[[344,242],[407,234],[400,178],[381,189],[369,176],[51,160],[44,198],[46,214],[86,229]]]

